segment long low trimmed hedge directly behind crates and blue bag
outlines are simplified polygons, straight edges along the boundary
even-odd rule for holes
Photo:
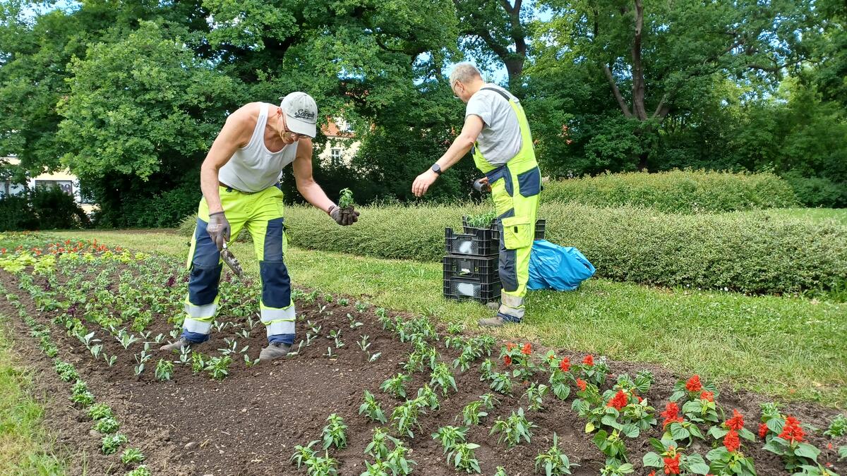
[[[340,227],[314,208],[289,207],[292,245],[384,258],[438,261],[444,229],[475,205],[363,208]],[[547,239],[576,246],[613,280],[750,293],[831,289],[847,276],[847,227],[767,211],[682,215],[641,208],[544,203]]]

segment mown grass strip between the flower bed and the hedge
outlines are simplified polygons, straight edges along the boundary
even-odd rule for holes
[[[184,257],[185,237],[132,231],[68,231],[109,245]],[[252,245],[235,243],[246,272],[257,274]],[[439,263],[418,263],[291,248],[295,285],[343,293],[381,307],[441,321],[475,320],[491,311],[441,296]],[[664,289],[592,279],[578,291],[535,291],[520,326],[497,329],[508,340],[659,363],[681,376],[786,400],[847,407],[847,304]]]

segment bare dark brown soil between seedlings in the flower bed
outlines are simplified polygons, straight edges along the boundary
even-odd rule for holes
[[[53,313],[40,313],[29,296],[19,291],[13,275],[0,272],[0,282],[7,291],[20,296],[21,302],[31,316],[42,324],[51,324]],[[36,280],[38,283],[38,280]],[[364,470],[364,447],[370,440],[374,423],[357,414],[362,402],[363,390],[369,390],[382,403],[386,415],[400,401],[379,390],[384,379],[399,371],[398,364],[407,357],[410,350],[401,343],[396,335],[381,329],[373,307],[364,313],[357,313],[351,306],[340,306],[335,296],[333,302],[325,302],[318,297],[316,302],[307,304],[298,302],[298,337],[305,336],[306,320],[322,326],[321,335],[330,329],[342,329],[345,346],[335,358],[324,357],[331,340],[319,337],[312,346],[305,347],[301,355],[289,357],[275,363],[263,363],[246,368],[241,356],[234,359],[230,366],[230,376],[222,381],[214,381],[207,374],[192,374],[191,368],[174,364],[174,379],[158,382],[153,379],[153,368],[158,358],[165,357],[156,352],[141,379],[136,379],[133,367],[136,362],[134,352],[141,350],[141,344],[124,350],[108,333],[99,329],[98,338],[104,340],[104,351],[117,355],[118,363],[108,368],[102,360],[94,361],[79,340],[69,338],[63,329],[52,325],[53,340],[59,348],[58,357],[73,363],[80,378],[88,382],[89,388],[98,402],[113,407],[121,422],[121,433],[126,434],[130,446],[141,449],[148,457],[148,467],[154,474],[215,474],[215,475],[263,475],[263,474],[302,474],[288,462],[294,446],[305,445],[310,440],[318,440],[325,419],[330,413],[338,413],[349,427],[347,430],[349,446],[345,450],[330,451],[332,457],[340,460],[340,474],[358,475]],[[354,302],[353,299],[350,302]],[[324,307],[325,306],[325,307]],[[323,312],[321,307],[324,307]],[[357,329],[350,329],[347,314],[363,323]],[[71,473],[113,474],[123,473],[117,457],[103,457],[100,454],[100,436],[90,434],[91,422],[86,421],[84,413],[71,407],[68,396],[70,385],[58,379],[53,371],[53,363],[36,346],[36,340],[29,335],[29,329],[18,318],[17,310],[0,296],[0,314],[7,316],[12,323],[18,348],[24,362],[36,368],[41,377],[37,380],[40,388],[52,396],[47,407],[47,426],[58,435],[58,443],[69,447],[76,454],[85,454],[73,461],[75,467]],[[198,351],[219,355],[216,349],[226,346],[224,337],[236,337],[236,331],[247,329],[246,318],[227,315],[222,308],[222,322],[232,323],[222,332],[213,330],[212,340],[198,347]],[[391,315],[399,315],[393,313]],[[412,316],[403,316],[411,318]],[[255,318],[255,320],[258,320]],[[159,319],[149,328],[152,335],[167,335],[171,324]],[[367,357],[357,346],[361,335],[369,335],[372,352],[380,351],[382,356],[375,363],[367,363]],[[262,324],[256,324],[248,339],[236,337],[239,347],[249,345],[248,354],[256,358],[261,347],[266,345]],[[154,346],[157,348],[158,346]],[[534,346],[536,355],[543,355],[546,349]],[[560,357],[570,356],[573,362],[579,362],[584,354],[555,349]],[[335,351],[335,349],[334,349]],[[450,361],[456,357],[453,351],[447,351],[443,344],[439,348],[441,357]],[[495,349],[495,357],[499,351]],[[176,360],[176,354],[170,356]],[[656,377],[646,397],[656,407],[657,412],[664,408],[672,393],[673,383],[688,376],[673,375],[667,370],[640,363],[610,362],[613,375],[628,373],[634,375],[642,369],[649,369]],[[446,465],[440,445],[430,438],[440,426],[457,424],[454,418],[461,413],[462,407],[490,391],[488,385],[479,380],[479,363],[463,374],[457,374],[458,393],[441,400],[438,411],[429,412],[421,418],[422,429],[415,432],[413,440],[407,439],[412,447],[412,459],[418,464],[415,473],[426,475],[455,474]],[[407,385],[407,393],[414,394],[429,379],[429,374],[415,374]],[[704,377],[705,379],[705,377]],[[612,385],[613,376],[607,380]],[[516,387],[517,387],[516,382]],[[510,450],[497,443],[496,435],[490,435],[491,423],[495,418],[508,416],[518,407],[526,407],[526,401],[520,398],[523,391],[515,390],[517,396],[498,396],[500,404],[479,426],[472,427],[468,440],[479,444],[477,459],[483,474],[494,474],[497,466],[506,468],[511,476],[534,473],[534,458],[540,451],[551,446],[555,432],[559,445],[571,462],[580,466],[574,473],[579,475],[598,474],[605,457],[591,441],[593,434],[584,434],[584,421],[571,410],[573,396],[567,401],[558,401],[554,397],[545,399],[546,410],[527,412],[529,420],[539,426],[534,431],[532,442],[522,444]],[[722,389],[719,404],[725,412],[731,413],[738,408],[745,415],[747,428],[756,431],[759,420],[759,404],[768,401],[761,396],[744,391]],[[803,423],[818,428],[826,428],[833,418],[833,411],[812,404],[784,404],[783,412],[793,414]],[[627,440],[629,459],[634,462],[636,474],[646,476],[650,471],[641,467],[641,457],[650,451],[648,439],[661,437],[661,430],[654,428],[635,440]],[[828,439],[811,434],[809,440],[822,449],[821,462],[832,462],[833,470],[844,472],[844,463],[836,461],[835,451],[826,449]],[[844,444],[844,440],[836,441]],[[783,475],[783,463],[778,457],[761,450],[761,441],[744,442],[745,454],[753,457],[757,473],[760,475]],[[705,455],[710,447],[695,448]],[[661,473],[661,472],[660,472]]]

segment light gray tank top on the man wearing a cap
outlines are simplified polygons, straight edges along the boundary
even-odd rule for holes
[[[264,144],[264,128],[268,124],[268,106],[263,102],[259,109],[256,128],[250,142],[232,155],[230,162],[218,171],[218,180],[238,191],[255,193],[273,186],[280,180],[282,169],[294,162],[297,142],[282,147],[280,152],[270,152]]]

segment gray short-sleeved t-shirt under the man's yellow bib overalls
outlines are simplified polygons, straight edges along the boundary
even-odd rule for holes
[[[500,86],[486,83],[483,87],[493,87],[505,92],[512,100],[509,91]],[[477,91],[468,101],[465,117],[477,115],[484,122],[477,142],[479,152],[492,165],[502,165],[518,155],[521,150],[521,126],[518,115],[505,97],[495,91]]]

